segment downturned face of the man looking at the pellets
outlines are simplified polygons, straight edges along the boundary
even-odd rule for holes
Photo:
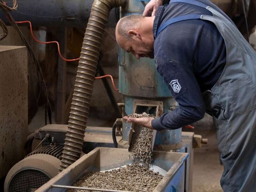
[[[131,52],[136,59],[140,59],[140,57],[154,59],[154,45],[146,44],[141,39],[117,38],[117,42],[126,52]]]

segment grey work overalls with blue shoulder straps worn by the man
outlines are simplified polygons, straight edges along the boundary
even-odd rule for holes
[[[211,90],[203,93],[206,112],[213,116],[220,158],[224,165],[220,184],[225,192],[256,191],[256,52],[236,26],[212,7],[194,0],[172,0],[203,7],[213,16],[184,15],[159,27],[182,20],[213,22],[227,49],[225,68]]]

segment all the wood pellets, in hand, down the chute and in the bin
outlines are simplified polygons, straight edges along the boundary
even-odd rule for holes
[[[132,114],[128,117],[154,117],[153,115]],[[155,117],[154,117],[155,118]],[[89,173],[80,178],[73,186],[112,189],[134,192],[150,192],[163,179],[158,172],[149,170],[151,163],[152,130],[135,125],[130,146],[132,165],[106,172]],[[67,192],[82,192],[88,190],[68,189]]]

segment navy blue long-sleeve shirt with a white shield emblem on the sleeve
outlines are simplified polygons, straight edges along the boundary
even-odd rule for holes
[[[222,12],[208,0],[198,1]],[[160,6],[154,20],[156,68],[179,103],[177,109],[152,121],[153,128],[159,131],[177,129],[202,119],[205,113],[202,92],[213,87],[226,64],[224,39],[210,21],[173,23],[156,37],[157,29],[165,21],[188,14],[212,15],[202,7],[173,3]]]

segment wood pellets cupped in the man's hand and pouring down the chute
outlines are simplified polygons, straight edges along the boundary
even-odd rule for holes
[[[128,117],[154,117],[153,115],[149,115],[147,113],[143,114],[132,114]],[[130,151],[132,154],[132,161],[135,165],[141,165],[145,168],[149,167],[149,164],[151,163],[151,146],[152,146],[152,132],[153,130],[141,127],[138,124],[135,124],[134,126],[134,133],[132,135],[132,141],[130,146]]]

